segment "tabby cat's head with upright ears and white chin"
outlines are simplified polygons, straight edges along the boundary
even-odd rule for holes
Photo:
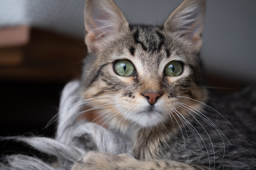
[[[198,56],[204,16],[204,0],[186,0],[163,27],[131,26],[113,1],[87,0],[87,109],[110,124],[142,127],[179,122],[200,110],[207,96]]]

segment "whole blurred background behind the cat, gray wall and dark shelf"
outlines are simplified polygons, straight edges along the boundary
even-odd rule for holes
[[[80,76],[84,0],[0,0],[0,136],[54,137],[64,85]],[[182,0],[115,1],[130,23],[161,25]],[[256,1],[207,1],[201,57],[214,93],[255,83]],[[0,153],[26,151],[0,142]],[[34,153],[34,152],[33,152]]]

